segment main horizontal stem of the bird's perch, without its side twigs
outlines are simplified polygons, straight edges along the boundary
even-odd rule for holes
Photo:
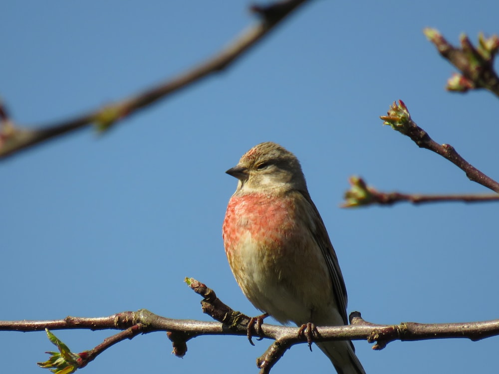
[[[210,289],[208,289],[210,290]],[[213,291],[212,291],[213,292]],[[206,300],[205,300],[206,301]],[[232,319],[231,326],[217,322],[205,322],[195,320],[179,320],[166,318],[145,309],[137,312],[117,313],[109,317],[99,318],[83,318],[83,317],[67,317],[64,320],[48,320],[48,321],[0,321],[0,331],[41,331],[44,328],[50,330],[69,330],[69,329],[85,329],[85,330],[107,330],[121,329],[126,330],[129,327],[141,323],[144,325],[143,333],[151,333],[156,331],[172,331],[184,333],[189,338],[200,335],[239,335],[247,334],[247,325],[244,324],[244,319],[239,316],[247,317],[230,309],[230,314],[238,316],[237,319]],[[129,320],[124,324],[114,322],[117,318],[123,315],[133,315],[133,320]],[[61,323],[61,321],[65,321]],[[97,326],[95,321],[99,321]],[[136,323],[132,323],[136,322]],[[237,321],[243,321],[239,323]],[[442,338],[468,338],[473,341],[489,338],[499,335],[499,320],[471,322],[471,323],[449,323],[449,324],[420,324],[420,323],[401,323],[400,325],[376,325],[366,323],[364,320],[357,322],[352,321],[350,326],[333,326],[333,327],[318,327],[320,337],[316,338],[317,342],[330,340],[368,340],[377,341],[375,338],[376,332],[383,329],[394,328],[398,326],[399,331],[395,335],[389,335],[391,340],[426,340],[426,339],[442,339]],[[228,321],[229,322],[229,321]],[[42,328],[44,326],[44,328]],[[285,327],[277,325],[262,324],[261,332],[263,338],[278,339],[289,341],[292,344],[306,343],[306,338],[298,336],[298,328]],[[383,336],[379,339],[385,339],[388,335],[383,332]],[[390,333],[393,334],[393,333]],[[378,334],[379,335],[379,334]],[[393,339],[392,339],[393,338]]]

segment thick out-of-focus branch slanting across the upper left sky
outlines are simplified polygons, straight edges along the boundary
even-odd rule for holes
[[[105,131],[139,109],[178,92],[212,73],[225,70],[305,1],[307,0],[285,0],[264,6],[251,6],[250,10],[258,15],[259,22],[244,30],[214,57],[156,87],[82,116],[41,128],[21,128],[14,125],[14,122],[6,116],[5,108],[0,105],[0,158],[91,124],[95,124],[99,131]]]

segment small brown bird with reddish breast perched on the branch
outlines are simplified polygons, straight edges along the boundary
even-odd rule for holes
[[[298,159],[266,142],[226,173],[239,182],[225,215],[225,252],[246,297],[283,324],[347,325],[338,259]],[[317,345],[338,374],[365,374],[352,342]]]

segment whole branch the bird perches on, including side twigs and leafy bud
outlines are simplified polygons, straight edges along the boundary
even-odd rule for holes
[[[48,352],[51,357],[39,366],[59,373],[73,373],[94,360],[100,353],[124,339],[132,339],[138,334],[155,331],[167,331],[173,342],[173,353],[183,357],[187,352],[187,341],[201,335],[240,335],[247,336],[250,317],[236,312],[217,297],[215,292],[195,279],[186,279],[188,285],[203,296],[201,302],[203,312],[219,322],[203,322],[193,320],[177,320],[165,318],[145,309],[137,312],[122,312],[109,317],[80,318],[66,317],[54,321],[0,321],[0,331],[40,331],[47,329],[47,335],[58,349]],[[221,322],[221,323],[220,323]],[[401,323],[399,325],[375,325],[364,321],[360,313],[350,315],[349,326],[318,327],[315,342],[332,340],[367,340],[376,344],[374,350],[386,347],[395,340],[416,341],[442,338],[468,338],[472,341],[499,335],[499,320],[450,323],[450,324],[418,324]],[[253,327],[250,327],[250,329]],[[120,333],[104,340],[95,348],[80,353],[72,353],[69,348],[57,339],[50,330],[119,329]],[[299,334],[299,328],[262,324],[259,331],[261,338],[273,339],[274,343],[257,359],[260,373],[268,373],[287,349],[299,343],[306,343],[307,337]],[[253,329],[254,331],[254,329]]]

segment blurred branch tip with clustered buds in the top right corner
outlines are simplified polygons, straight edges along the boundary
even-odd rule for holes
[[[478,36],[475,47],[466,34],[460,36],[461,48],[456,48],[434,28],[425,28],[424,34],[435,44],[439,53],[462,74],[455,74],[447,82],[449,91],[467,92],[485,88],[499,97],[499,77],[494,71],[494,58],[499,51],[499,36]]]

